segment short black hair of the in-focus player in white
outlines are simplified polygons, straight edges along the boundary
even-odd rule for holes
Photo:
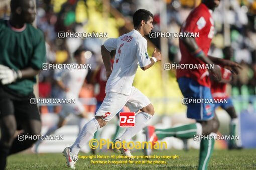
[[[150,19],[150,16],[153,18],[153,14],[148,10],[137,10],[133,15],[134,27],[139,26],[142,20],[144,20],[146,23]]]

